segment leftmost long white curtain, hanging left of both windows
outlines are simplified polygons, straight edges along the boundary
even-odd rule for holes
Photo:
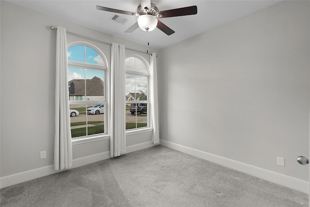
[[[57,28],[54,169],[72,167],[66,29]]]

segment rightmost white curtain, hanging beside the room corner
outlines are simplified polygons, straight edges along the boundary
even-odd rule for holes
[[[157,95],[157,64],[156,53],[152,53],[150,68],[150,105],[151,105],[151,127],[153,127],[152,142],[159,143],[159,121],[158,121],[158,95]]]

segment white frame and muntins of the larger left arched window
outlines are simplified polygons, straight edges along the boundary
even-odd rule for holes
[[[91,135],[85,135],[85,136],[80,136],[80,137],[73,137],[72,140],[78,141],[78,140],[88,140],[88,139],[96,139],[99,137],[104,137],[109,135],[109,123],[108,121],[108,91],[107,91],[107,81],[108,81],[108,77],[107,75],[109,74],[108,72],[108,61],[107,58],[105,56],[105,54],[99,49],[97,48],[95,45],[88,43],[88,42],[82,42],[82,41],[78,41],[78,42],[73,42],[71,44],[67,45],[67,49],[71,48],[73,46],[77,46],[77,45],[82,45],[84,46],[84,63],[82,62],[78,62],[78,61],[72,61],[69,60],[67,58],[67,64],[68,64],[68,69],[67,71],[69,71],[69,67],[74,67],[74,68],[81,68],[84,69],[84,80],[86,80],[86,70],[90,69],[90,70],[97,70],[97,71],[102,71],[103,72],[103,82],[104,82],[104,97],[102,101],[90,101],[87,100],[87,94],[86,94],[86,87],[85,87],[85,100],[70,100],[69,99],[69,104],[83,104],[85,105],[85,115],[86,115],[86,119],[85,121],[88,122],[88,115],[87,114],[87,108],[89,108],[89,105],[95,105],[95,104],[104,104],[104,133],[99,133],[99,134],[91,134]],[[103,65],[101,64],[91,64],[91,63],[85,63],[86,62],[86,47],[92,48],[94,51],[96,51],[98,53],[98,55],[101,57],[102,61],[103,61]],[[69,97],[68,97],[69,98]],[[71,129],[70,129],[71,130]],[[88,131],[88,124],[86,125],[86,132]]]

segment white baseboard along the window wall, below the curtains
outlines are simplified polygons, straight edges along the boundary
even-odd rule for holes
[[[148,148],[154,145],[155,144],[153,144],[152,142],[135,144],[135,145],[127,146],[126,151],[127,153],[134,152],[134,151],[145,149],[145,148]],[[83,165],[91,164],[93,162],[97,162],[97,161],[109,159],[109,158],[111,158],[110,151],[83,157],[83,158],[74,159],[72,168],[80,167]],[[3,177],[0,177],[0,188],[4,188],[7,186],[15,185],[15,184],[26,182],[26,181],[29,181],[29,180],[32,180],[38,177],[43,177],[46,175],[51,175],[51,174],[59,173],[59,172],[61,171],[54,170],[54,165],[48,165],[45,167],[36,168],[33,170],[16,173],[13,175],[3,176]]]

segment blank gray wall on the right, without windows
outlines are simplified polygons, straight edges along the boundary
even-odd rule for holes
[[[160,50],[160,138],[309,180],[309,11],[282,1]]]

